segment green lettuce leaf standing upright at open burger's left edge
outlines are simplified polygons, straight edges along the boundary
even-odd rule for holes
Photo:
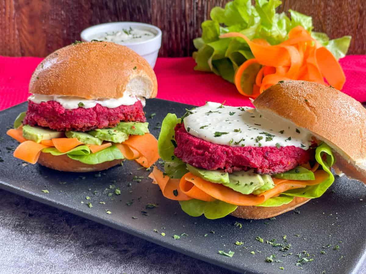
[[[176,147],[174,128],[180,122],[181,119],[175,114],[168,113],[161,123],[158,138],[159,155],[165,161],[164,170],[170,178],[182,178],[188,172],[186,164],[174,155]]]

